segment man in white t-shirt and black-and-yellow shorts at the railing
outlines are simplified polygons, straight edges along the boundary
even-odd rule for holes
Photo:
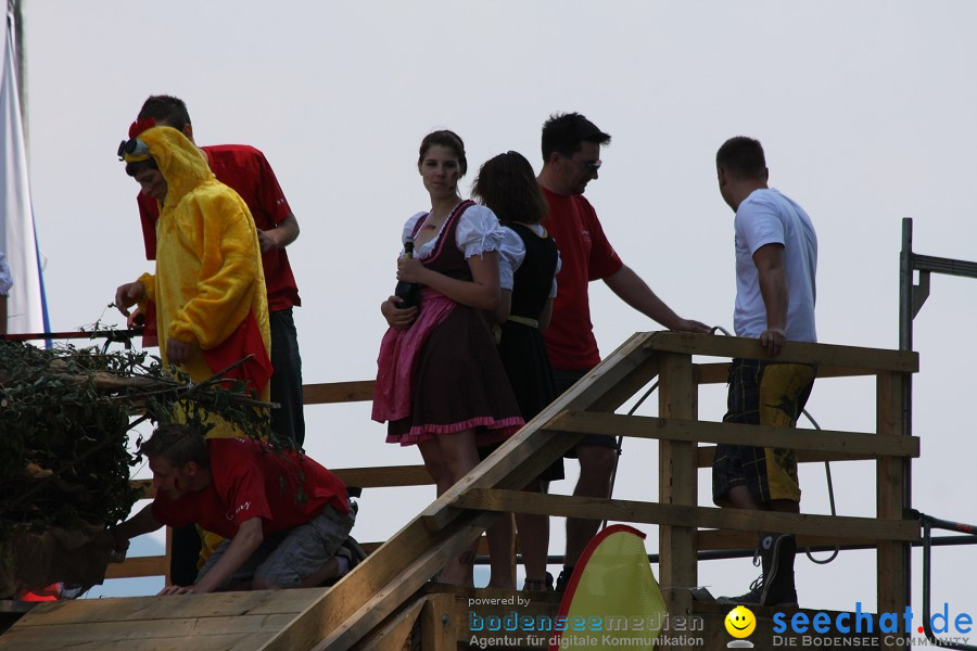
[[[715,155],[720,193],[736,212],[737,336],[758,339],[770,357],[785,341],[815,342],[814,276],[817,237],[797,203],[767,187],[760,142],[736,137]],[[809,365],[734,359],[724,422],[794,427],[811,387]],[[712,464],[716,505],[762,511],[800,512],[797,455],[783,448],[719,445]],[[763,576],[746,595],[721,603],[797,605],[791,534],[760,535]]]

